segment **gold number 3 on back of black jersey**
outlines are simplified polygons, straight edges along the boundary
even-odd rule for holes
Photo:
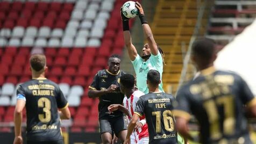
[[[51,101],[42,97],[38,99],[38,107],[42,107],[44,114],[38,114],[38,118],[42,123],[48,123],[51,120]]]

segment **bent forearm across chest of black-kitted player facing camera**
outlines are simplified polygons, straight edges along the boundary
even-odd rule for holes
[[[117,89],[117,85],[111,84],[108,89],[105,90],[96,90],[94,88],[90,88],[88,91],[89,98],[96,98],[100,97],[102,95],[105,95],[106,93],[111,93]]]

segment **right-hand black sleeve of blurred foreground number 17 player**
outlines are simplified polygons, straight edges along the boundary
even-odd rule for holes
[[[256,104],[251,89],[248,87],[247,83],[241,77],[239,85],[240,87],[238,91],[240,92],[240,98],[243,101],[243,103],[249,106]]]

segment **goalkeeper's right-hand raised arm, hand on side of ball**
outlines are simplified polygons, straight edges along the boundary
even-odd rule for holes
[[[150,46],[151,53],[153,55],[158,54],[158,46],[157,43],[155,43],[152,31],[150,26],[147,24],[147,20],[143,11],[143,8],[139,2],[136,2],[136,8],[139,10],[139,19],[141,21],[144,34],[146,35],[148,46]]]

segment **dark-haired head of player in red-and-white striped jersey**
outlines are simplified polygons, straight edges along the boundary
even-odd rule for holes
[[[124,74],[120,77],[120,90],[122,93],[125,90],[131,90],[134,88],[135,78],[131,74]]]

